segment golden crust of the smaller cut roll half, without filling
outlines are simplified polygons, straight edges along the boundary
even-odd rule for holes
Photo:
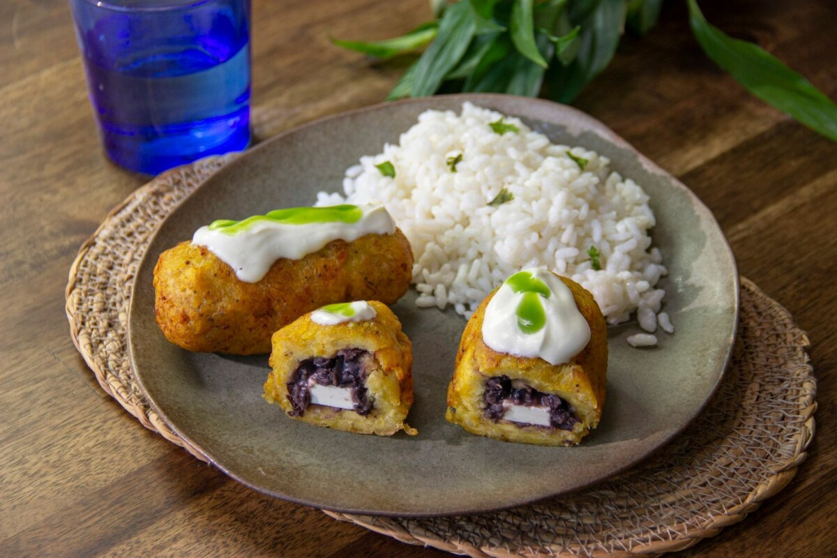
[[[341,349],[363,349],[372,354],[374,364],[366,386],[372,397],[372,411],[366,417],[357,412],[313,405],[298,418],[317,426],[352,433],[391,435],[399,430],[415,431],[404,424],[413,405],[413,351],[401,330],[401,322],[386,305],[369,301],[377,313],[372,320],[319,325],[311,314],[301,316],[273,335],[270,372],[264,383],[264,398],[279,403],[289,412],[288,381],[300,362],[317,356],[332,358]]]

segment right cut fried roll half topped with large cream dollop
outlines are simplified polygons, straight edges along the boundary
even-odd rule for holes
[[[579,443],[602,416],[607,366],[607,324],[593,295],[524,269],[465,325],[445,417],[506,442]]]

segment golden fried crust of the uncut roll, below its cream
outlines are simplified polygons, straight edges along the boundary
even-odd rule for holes
[[[258,283],[240,281],[208,248],[190,242],[154,268],[157,325],[187,351],[270,352],[270,335],[323,305],[375,299],[393,304],[409,288],[413,251],[403,233],[335,240],[302,259],[278,259]]]

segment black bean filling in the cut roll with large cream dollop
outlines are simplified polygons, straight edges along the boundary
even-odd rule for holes
[[[538,392],[534,387],[513,387],[509,376],[496,376],[485,382],[485,416],[499,421],[506,409],[503,402],[512,405],[549,407],[549,425],[561,430],[573,430],[578,417],[569,403],[557,395]]]

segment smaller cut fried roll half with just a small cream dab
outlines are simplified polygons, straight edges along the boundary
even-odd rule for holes
[[[389,436],[413,404],[413,352],[377,301],[327,305],[273,335],[264,398],[321,427]]]

